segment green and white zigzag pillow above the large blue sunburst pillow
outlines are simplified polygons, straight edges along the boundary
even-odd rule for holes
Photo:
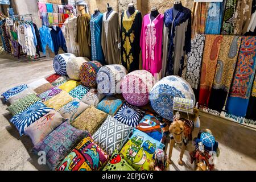
[[[10,111],[11,114],[16,115],[21,113],[22,111],[26,110],[35,102],[40,101],[39,97],[36,97],[36,94],[30,94],[16,102],[13,105],[10,105],[7,110]]]

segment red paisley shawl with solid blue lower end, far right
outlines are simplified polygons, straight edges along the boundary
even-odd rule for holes
[[[229,118],[245,117],[256,69],[255,59],[256,37],[243,36],[232,89],[226,104],[226,116]]]

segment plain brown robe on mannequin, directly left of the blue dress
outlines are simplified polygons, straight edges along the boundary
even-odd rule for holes
[[[76,42],[79,43],[79,56],[90,59],[90,16],[87,13],[77,17]]]

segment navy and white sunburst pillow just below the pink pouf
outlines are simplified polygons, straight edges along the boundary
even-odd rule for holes
[[[114,118],[125,125],[136,127],[144,114],[145,112],[139,109],[139,107],[130,105],[125,102],[123,103],[121,109],[117,111],[117,114],[115,114]]]

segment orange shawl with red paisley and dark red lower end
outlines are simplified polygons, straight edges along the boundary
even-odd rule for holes
[[[199,90],[200,106],[208,106],[222,38],[223,35],[205,35],[205,49]]]

